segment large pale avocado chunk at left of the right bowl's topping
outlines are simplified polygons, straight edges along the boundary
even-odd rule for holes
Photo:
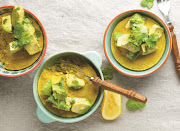
[[[125,48],[133,53],[140,51],[140,47],[135,46],[134,44],[129,42],[129,34],[124,34],[118,38],[116,43],[117,47]]]

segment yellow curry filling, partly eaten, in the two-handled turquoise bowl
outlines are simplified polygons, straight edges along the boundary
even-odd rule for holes
[[[94,77],[97,76],[95,70],[89,64],[85,64],[85,66],[84,65],[80,66],[80,68],[85,73],[85,75],[94,76]],[[56,84],[61,80],[61,78],[64,78],[65,83],[66,83],[65,74],[63,74],[62,72],[57,72],[55,65],[48,69],[44,69],[42,71],[39,81],[38,81],[38,94],[39,94],[40,100],[50,112],[52,112],[53,114],[57,116],[67,117],[67,118],[77,117],[80,114],[76,114],[71,111],[64,111],[64,110],[60,110],[60,109],[52,107],[52,103],[46,102],[46,99],[48,98],[48,96],[42,94],[42,88],[49,79],[52,80],[52,84]],[[98,96],[99,87],[94,86],[86,77],[84,77],[83,79],[85,81],[85,86],[81,89],[78,89],[78,90],[71,89],[67,87],[67,84],[64,84],[64,88],[66,89],[66,93],[68,94],[68,97],[87,98],[93,105]]]

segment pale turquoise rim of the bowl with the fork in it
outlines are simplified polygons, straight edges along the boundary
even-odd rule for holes
[[[87,51],[87,52],[89,52],[89,51]],[[73,119],[73,118],[67,118],[67,119],[66,119],[66,118],[57,116],[57,115],[53,114],[51,111],[49,111],[49,110],[43,105],[43,103],[41,102],[40,97],[39,97],[39,93],[38,93],[38,91],[34,88],[34,86],[35,86],[35,80],[38,79],[37,82],[39,81],[39,77],[40,77],[40,76],[37,77],[37,75],[38,75],[38,73],[39,73],[39,70],[48,62],[48,60],[49,60],[49,59],[52,59],[52,58],[55,57],[55,56],[59,56],[59,55],[61,55],[61,54],[67,54],[67,53],[77,54],[77,55],[80,55],[80,56],[85,57],[85,59],[87,59],[88,61],[90,61],[90,62],[95,66],[95,68],[97,69],[97,71],[98,71],[99,74],[100,74],[100,77],[102,77],[102,80],[104,80],[102,71],[101,71],[101,69],[100,69],[101,66],[99,67],[99,66],[98,66],[96,63],[94,63],[91,59],[89,59],[87,56],[85,56],[85,54],[86,54],[87,52],[80,53],[80,52],[78,52],[78,51],[62,51],[62,52],[53,54],[53,55],[49,56],[47,59],[45,59],[45,60],[41,63],[41,65],[40,65],[40,67],[38,68],[38,70],[36,71],[36,74],[35,74],[34,80],[33,80],[33,97],[34,97],[35,102],[36,102],[36,104],[37,104],[37,108],[40,108],[41,111],[44,112],[44,113],[45,113],[49,118],[51,118],[53,121],[58,121],[58,122],[62,122],[62,123],[75,123],[75,122],[82,121],[82,120],[88,118],[89,116],[91,116],[91,115],[97,110],[97,108],[100,106],[100,104],[101,104],[101,102],[102,102],[103,95],[104,95],[104,89],[101,88],[101,87],[99,87],[99,90],[101,91],[101,92],[99,91],[99,93],[100,93],[100,95],[99,95],[99,100],[98,100],[97,102],[95,101],[95,103],[97,103],[97,104],[94,106],[94,108],[93,108],[90,112],[87,112],[87,113],[81,115],[80,117],[73,117],[73,118],[75,118],[75,119]],[[40,72],[40,73],[42,73],[42,72]],[[38,89],[38,87],[37,87],[37,89]],[[38,98],[36,97],[36,94],[38,95],[40,102],[39,102]],[[98,96],[97,96],[96,100],[97,100],[97,99],[98,99]],[[95,104],[95,103],[94,103],[94,104]],[[93,104],[93,105],[94,105],[94,104]],[[52,114],[53,114],[54,116],[53,116]],[[61,118],[66,119],[66,120],[62,120]],[[71,119],[71,120],[70,120],[70,119]],[[73,120],[72,120],[72,119],[73,119]]]

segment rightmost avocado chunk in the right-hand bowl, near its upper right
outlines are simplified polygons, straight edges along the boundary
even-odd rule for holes
[[[160,27],[160,26],[157,25],[157,24],[154,24],[154,25],[150,28],[150,30],[149,30],[149,36],[150,36],[151,34],[156,34],[156,35],[159,36],[159,38],[161,38],[163,32],[164,32],[164,29],[163,29],[162,27]]]

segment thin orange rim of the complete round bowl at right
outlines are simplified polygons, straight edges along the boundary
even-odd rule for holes
[[[136,11],[146,12],[146,13],[152,14],[152,15],[154,15],[156,18],[158,18],[158,19],[162,22],[162,24],[164,25],[164,27],[166,28],[166,30],[167,30],[167,32],[168,32],[169,44],[170,44],[169,50],[168,50],[168,54],[167,54],[165,60],[161,63],[161,65],[160,65],[158,68],[156,68],[155,70],[153,70],[153,71],[151,71],[151,72],[149,72],[149,73],[147,73],[147,74],[142,74],[142,75],[132,75],[132,74],[128,74],[128,73],[123,72],[122,70],[118,69],[118,68],[113,64],[113,62],[111,62],[111,60],[110,60],[110,58],[109,58],[109,56],[108,56],[108,54],[107,54],[107,50],[106,50],[106,46],[105,46],[105,45],[106,45],[106,35],[107,35],[108,29],[109,29],[109,27],[111,26],[111,24],[112,24],[119,16],[121,16],[121,15],[123,15],[123,14],[126,14],[126,13],[129,13],[129,12],[136,12]],[[109,61],[109,63],[110,63],[117,71],[119,71],[120,73],[122,73],[122,74],[124,74],[124,75],[131,76],[131,77],[145,77],[145,76],[148,76],[148,75],[150,75],[150,74],[153,74],[154,72],[156,72],[157,70],[159,70],[159,69],[165,64],[165,62],[167,61],[167,59],[168,59],[168,57],[169,57],[169,55],[170,55],[170,52],[171,52],[171,48],[172,48],[172,38],[171,38],[171,33],[170,33],[170,31],[169,31],[169,28],[167,27],[167,25],[165,24],[165,22],[164,22],[159,16],[157,16],[156,14],[154,14],[154,13],[152,13],[152,12],[150,12],[150,11],[147,11],[147,10],[143,10],[143,9],[133,9],[133,10],[128,10],[128,11],[122,12],[122,13],[118,14],[117,16],[115,16],[115,17],[111,20],[111,22],[108,24],[108,26],[107,26],[107,28],[106,28],[106,30],[105,30],[105,33],[104,33],[103,47],[104,47],[104,53],[105,53],[105,56],[106,56],[107,60]]]

